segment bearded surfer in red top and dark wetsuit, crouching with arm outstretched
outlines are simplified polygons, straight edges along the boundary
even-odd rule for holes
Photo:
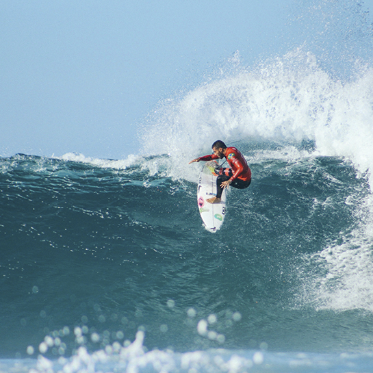
[[[218,175],[216,178],[217,193],[215,197],[207,199],[208,203],[219,203],[221,201],[223,189],[229,188],[229,185],[237,189],[245,189],[250,185],[251,170],[244,156],[233,146],[227,148],[224,142],[217,140],[212,144],[211,148],[214,154],[198,157],[190,161],[189,164],[200,161],[211,161],[212,159],[218,158],[227,159],[231,168],[216,167],[215,173]]]

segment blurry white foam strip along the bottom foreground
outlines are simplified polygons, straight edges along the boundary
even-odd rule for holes
[[[53,372],[226,372],[244,373],[268,371],[325,372],[325,370],[358,370],[371,361],[371,354],[326,355],[296,352],[267,352],[254,350],[224,350],[177,353],[171,350],[147,351],[143,346],[144,333],[138,331],[136,339],[127,346],[117,342],[104,350],[88,352],[81,346],[70,358],[50,360],[42,355],[38,359],[1,360],[4,372],[53,373]],[[354,371],[355,371],[354,370]]]

